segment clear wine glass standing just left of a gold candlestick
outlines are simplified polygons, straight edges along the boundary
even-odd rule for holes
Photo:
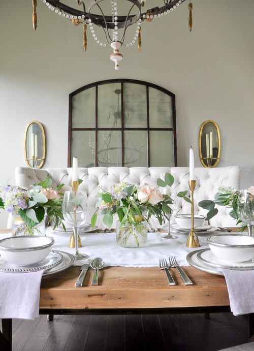
[[[86,192],[65,192],[62,203],[62,215],[65,221],[72,226],[75,239],[75,261],[87,259],[87,254],[78,251],[78,232],[79,228],[86,222],[88,217],[88,201]]]

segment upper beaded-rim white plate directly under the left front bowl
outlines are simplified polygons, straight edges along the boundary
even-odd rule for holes
[[[18,267],[15,266],[11,263],[8,263],[5,261],[1,256],[0,256],[0,272],[6,272],[6,273],[28,273],[28,272],[37,272],[42,269],[52,269],[58,265],[60,265],[63,262],[63,254],[59,251],[50,251],[48,256],[30,266],[25,266],[25,267]]]

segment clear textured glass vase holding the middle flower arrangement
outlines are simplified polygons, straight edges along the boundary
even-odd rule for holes
[[[116,221],[116,241],[122,247],[136,248],[142,247],[147,242],[147,221],[138,221],[138,228],[131,222],[126,222],[121,226],[119,220]]]

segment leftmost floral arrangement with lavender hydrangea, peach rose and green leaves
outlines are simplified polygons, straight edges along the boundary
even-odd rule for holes
[[[57,227],[62,217],[62,193],[50,187],[52,179],[46,180],[38,185],[32,184],[32,189],[20,187],[18,185],[7,185],[1,188],[0,207],[15,216],[20,216],[26,225],[26,233],[33,235],[33,228],[44,221],[47,214],[49,219],[54,219]]]

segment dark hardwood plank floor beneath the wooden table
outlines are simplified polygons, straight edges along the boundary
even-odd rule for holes
[[[204,313],[13,320],[14,351],[217,351],[245,342],[247,317],[232,313],[211,313],[209,320]]]

